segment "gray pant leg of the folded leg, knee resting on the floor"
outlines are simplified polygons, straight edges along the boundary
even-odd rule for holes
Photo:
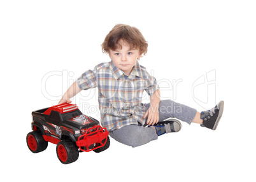
[[[110,132],[110,136],[116,141],[132,147],[141,146],[158,138],[154,129],[139,125],[127,125],[113,130]]]

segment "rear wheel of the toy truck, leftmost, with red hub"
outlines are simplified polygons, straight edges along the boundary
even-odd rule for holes
[[[40,130],[36,130],[27,134],[27,146],[32,153],[38,153],[46,150],[48,142],[43,139]]]

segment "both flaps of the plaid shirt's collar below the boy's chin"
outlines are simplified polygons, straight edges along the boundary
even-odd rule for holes
[[[117,80],[120,76],[122,76],[122,74],[124,74],[124,71],[122,71],[121,69],[119,69],[117,66],[115,66],[113,60],[111,60],[110,62],[110,69],[115,77],[115,79]],[[139,76],[142,78],[142,73],[141,73],[141,67],[139,66],[139,62],[138,60],[136,61],[135,66],[132,68],[132,72],[131,74],[133,78],[135,78],[135,76]]]

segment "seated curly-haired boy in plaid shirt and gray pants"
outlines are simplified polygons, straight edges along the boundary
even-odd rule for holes
[[[146,144],[168,132],[178,132],[181,123],[199,123],[215,130],[223,113],[224,101],[215,108],[199,113],[196,109],[171,100],[160,101],[157,81],[150,76],[138,60],[147,52],[148,44],[136,27],[118,24],[106,36],[102,48],[111,61],[101,63],[94,70],[85,71],[69,87],[60,103],[81,90],[97,87],[101,125],[110,136],[132,147]],[[142,104],[144,90],[150,95],[150,103]],[[177,111],[174,111],[178,108]],[[146,127],[148,125],[148,127]]]

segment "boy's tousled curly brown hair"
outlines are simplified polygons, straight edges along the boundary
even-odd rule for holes
[[[117,24],[108,33],[101,45],[103,53],[110,53],[110,50],[117,50],[117,48],[122,49],[122,41],[128,43],[131,49],[139,49],[139,52],[144,55],[148,51],[148,43],[139,29],[129,25]]]

